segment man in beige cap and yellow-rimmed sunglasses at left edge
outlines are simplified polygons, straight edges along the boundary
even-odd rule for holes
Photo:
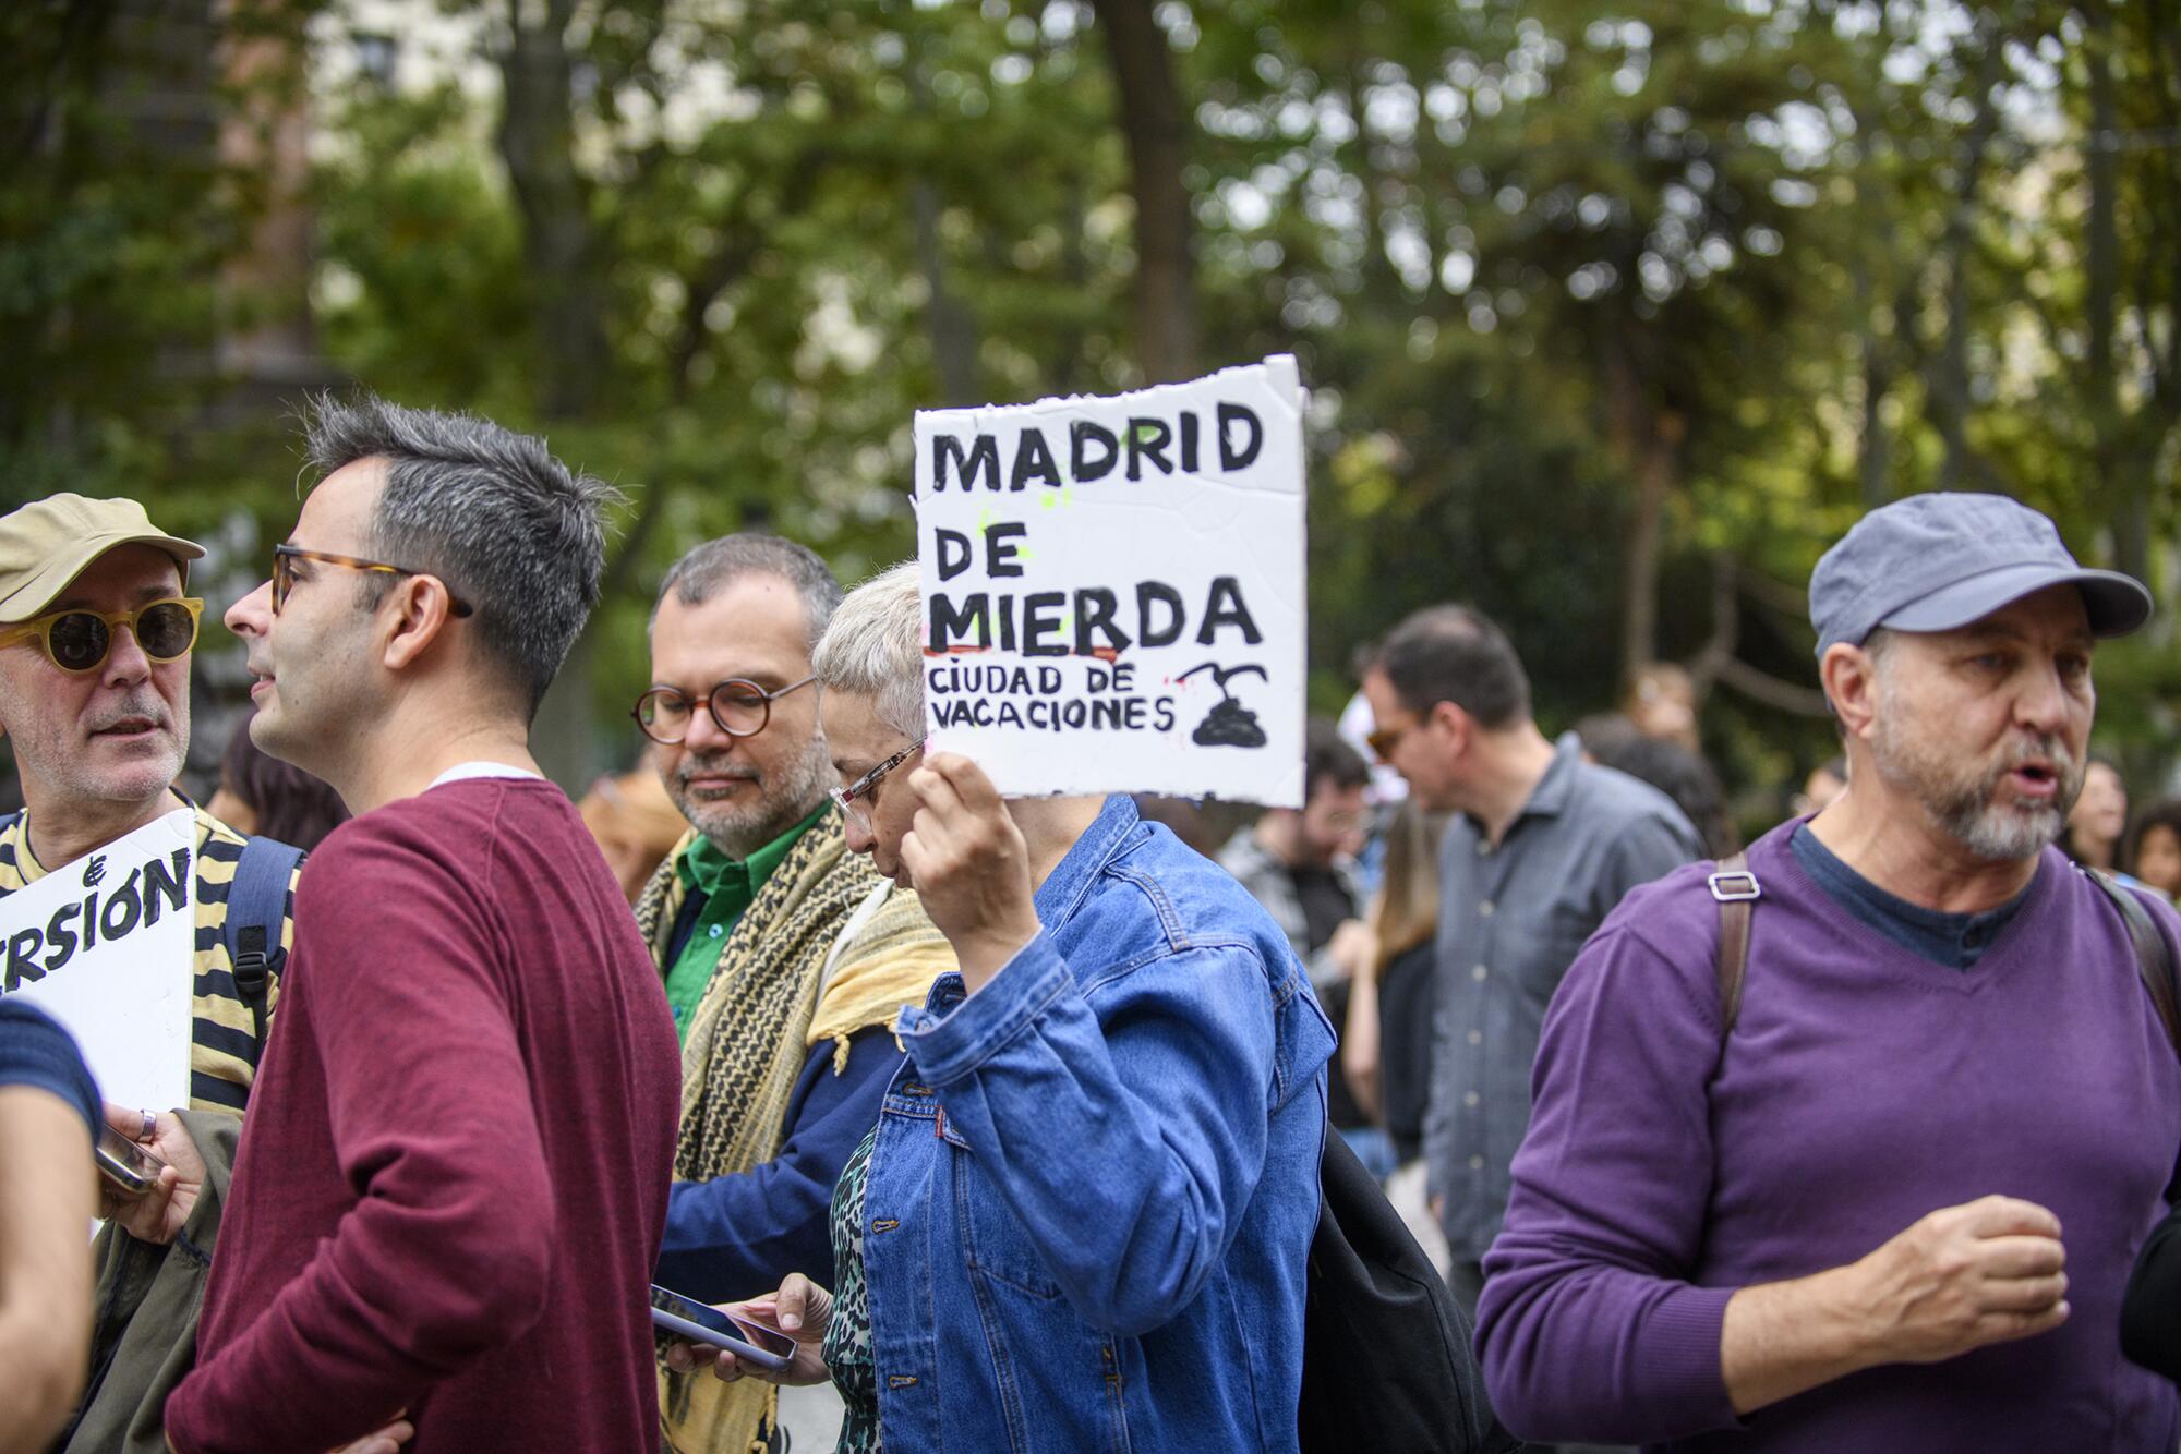
[[[190,1103],[109,1107],[164,1155],[168,1197],[109,1197],[92,1384],[68,1450],[159,1450],[159,1406],[188,1371],[220,1203],[292,940],[294,850],[244,839],[179,791],[205,552],[133,499],[52,495],[0,517],[0,730],[24,811],[0,820],[7,896],[137,828],[196,815]],[[240,957],[240,968],[238,968]],[[203,1195],[209,1188],[209,1195]]]

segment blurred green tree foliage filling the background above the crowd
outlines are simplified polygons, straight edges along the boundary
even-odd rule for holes
[[[419,0],[462,39],[393,81],[353,65],[360,9],[308,9],[323,351],[630,495],[563,728],[641,689],[689,543],[903,554],[914,408],[1278,349],[1313,386],[1322,706],[1463,597],[1549,724],[1684,661],[1730,774],[1780,783],[1830,741],[1802,582],[1863,508],[2009,490],[2181,584],[2164,0]],[[164,360],[238,305],[251,198],[126,140],[109,13],[0,22],[41,137],[0,174],[35,342],[0,449],[286,486],[266,429],[181,427]],[[2129,741],[2177,737],[2168,639],[2109,658]],[[628,741],[569,732],[563,772]]]

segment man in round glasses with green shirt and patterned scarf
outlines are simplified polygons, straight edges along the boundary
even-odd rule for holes
[[[683,1038],[659,1282],[704,1301],[768,1293],[787,1273],[831,1277],[833,1182],[901,1064],[894,1014],[953,968],[916,896],[848,852],[827,796],[811,650],[838,604],[840,584],[803,545],[698,545],[659,589],[652,687],[632,713],[691,824],[637,922]],[[663,1380],[674,1447],[759,1437],[761,1384]]]

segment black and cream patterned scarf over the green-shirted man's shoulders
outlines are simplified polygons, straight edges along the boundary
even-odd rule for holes
[[[687,898],[676,865],[694,841],[689,833],[667,855],[637,900],[637,929],[656,964],[672,964],[667,940]],[[848,916],[877,883],[870,861],[848,852],[840,815],[827,813],[803,831],[735,920],[683,1046],[676,1179],[733,1175],[779,1155],[787,1103],[809,1055],[818,977]],[[763,1450],[763,1428],[774,1421],[770,1384],[752,1378],[722,1384],[709,1371],[674,1373],[665,1362],[659,1380],[667,1450]]]

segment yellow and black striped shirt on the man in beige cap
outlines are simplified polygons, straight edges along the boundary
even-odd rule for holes
[[[236,990],[236,966],[227,955],[227,885],[242,861],[242,835],[205,809],[196,813],[196,964],[190,992],[190,1110],[240,1112],[251,1088],[251,1005]],[[26,815],[0,828],[0,898],[46,876],[31,857]],[[301,870],[297,870],[301,872]],[[294,881],[279,942],[294,948]],[[279,981],[266,987],[266,1007],[279,998]]]

